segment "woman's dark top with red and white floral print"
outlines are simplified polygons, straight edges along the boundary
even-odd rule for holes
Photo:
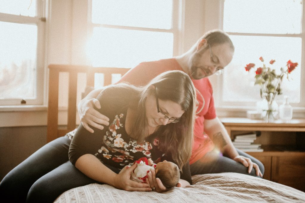
[[[97,99],[102,107],[99,112],[110,119],[110,124],[103,130],[93,128],[94,133],[88,132],[82,125],[77,128],[69,149],[69,158],[73,164],[80,156],[93,154],[102,163],[121,169],[142,157],[158,162],[164,156],[158,150],[159,139],[155,136],[149,136],[140,144],[126,133],[126,113],[132,96],[130,90],[115,86],[99,94]]]

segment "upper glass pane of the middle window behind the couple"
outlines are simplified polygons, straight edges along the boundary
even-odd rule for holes
[[[92,0],[92,23],[171,28],[172,0]]]

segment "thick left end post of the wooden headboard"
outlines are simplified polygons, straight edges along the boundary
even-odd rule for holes
[[[59,72],[49,69],[47,142],[57,138]]]

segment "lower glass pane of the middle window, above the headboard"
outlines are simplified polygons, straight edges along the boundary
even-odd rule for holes
[[[132,68],[143,61],[171,58],[173,33],[95,27],[87,54],[95,67]]]

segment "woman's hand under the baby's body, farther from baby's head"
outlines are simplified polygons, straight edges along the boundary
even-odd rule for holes
[[[130,180],[131,172],[137,167],[137,163],[116,175],[113,180],[113,187],[126,191],[152,191],[147,183],[138,183]]]

